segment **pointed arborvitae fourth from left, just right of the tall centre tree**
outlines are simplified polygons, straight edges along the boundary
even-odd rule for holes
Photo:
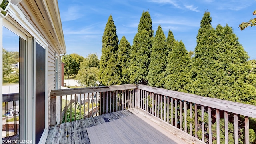
[[[156,36],[153,40],[152,51],[150,54],[150,64],[148,67],[148,84],[159,88],[164,87],[162,79],[166,69],[166,59],[168,56],[168,48],[166,47],[166,37],[161,26],[156,30]]]

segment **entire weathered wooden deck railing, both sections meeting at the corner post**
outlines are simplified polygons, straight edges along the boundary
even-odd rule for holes
[[[87,96],[89,99],[89,93],[96,94],[97,100],[92,101],[96,106],[94,108],[92,106],[91,110],[89,108],[81,110],[80,105],[85,105],[85,102],[79,102],[78,99],[81,100],[81,96],[84,96],[84,99]],[[97,114],[140,107],[208,144],[228,144],[229,142],[249,144],[250,137],[253,137],[253,133],[250,135],[250,128],[255,129],[252,126],[253,122],[256,122],[254,119],[256,106],[133,84],[52,90],[51,125],[56,124],[56,97],[58,96],[64,96],[66,99],[68,96],[74,98],[70,101],[70,107],[67,107],[66,101],[63,114],[60,111],[60,115],[65,114],[64,117],[67,117],[67,110],[71,111],[72,106],[80,108],[78,112],[74,112],[74,119],[77,119],[76,113],[79,115],[81,112],[84,114],[79,118],[87,118]],[[92,102],[88,101],[88,105]],[[252,122],[251,125],[249,121]]]

